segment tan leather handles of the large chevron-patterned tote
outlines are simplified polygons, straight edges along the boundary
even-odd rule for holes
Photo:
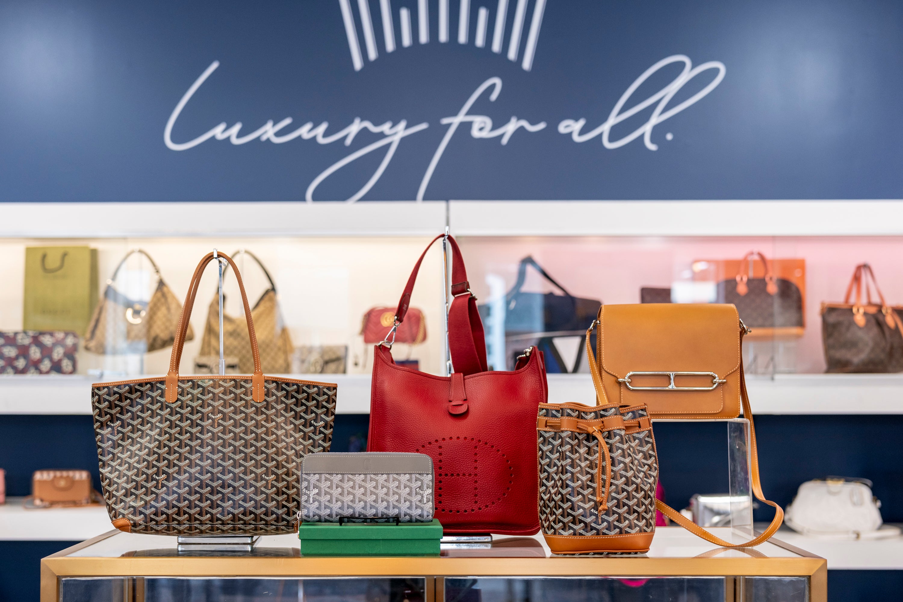
[[[218,253],[219,257],[225,259],[232,270],[238,282],[238,290],[241,292],[241,302],[245,306],[245,319],[247,320],[247,334],[251,339],[251,355],[254,357],[254,374],[251,375],[251,396],[255,402],[264,401],[264,373],[260,365],[260,350],[257,347],[257,335],[254,331],[254,319],[251,318],[251,306],[247,302],[247,294],[245,293],[245,283],[241,280],[241,273],[238,272],[238,266],[232,261],[228,255]],[[182,362],[182,347],[185,346],[185,334],[188,331],[189,319],[191,318],[191,308],[194,306],[194,299],[198,294],[198,286],[200,285],[200,277],[204,273],[204,268],[213,261],[213,254],[208,253],[200,260],[200,264],[194,270],[191,276],[191,283],[188,286],[188,294],[185,296],[185,303],[182,305],[182,315],[179,316],[179,326],[176,328],[175,341],[172,343],[172,356],[170,356],[170,369],[166,374],[166,402],[175,403],[179,399],[179,364]]]

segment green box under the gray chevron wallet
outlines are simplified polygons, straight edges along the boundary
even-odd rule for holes
[[[438,555],[442,524],[301,523],[301,553],[316,556]]]

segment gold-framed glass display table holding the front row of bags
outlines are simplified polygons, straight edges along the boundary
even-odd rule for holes
[[[726,528],[713,529],[721,538]],[[302,556],[294,535],[252,552],[179,553],[176,538],[110,532],[42,560],[42,602],[824,602],[826,560],[777,540],[743,551],[660,527],[647,554],[554,556],[541,536],[440,556]]]

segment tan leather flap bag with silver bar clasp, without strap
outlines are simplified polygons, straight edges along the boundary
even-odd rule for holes
[[[644,404],[652,418],[737,418],[740,336],[733,305],[603,305],[600,375],[612,403]]]

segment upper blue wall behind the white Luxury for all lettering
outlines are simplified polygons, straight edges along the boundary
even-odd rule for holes
[[[487,122],[477,138],[473,124],[461,124],[425,199],[903,197],[903,4],[894,0],[549,0],[530,70],[523,59],[536,0],[526,5],[516,61],[507,60],[514,0],[498,54],[491,50],[494,1],[470,3],[466,44],[458,42],[458,0],[449,2],[445,43],[438,41],[435,0],[425,44],[418,41],[417,3],[391,5],[396,50],[388,53],[379,3],[369,0],[377,58],[368,60],[358,3],[349,3],[362,49],[355,70],[335,0],[4,3],[0,200],[299,200],[330,166],[389,142],[365,130],[347,146],[344,135],[330,144],[274,144],[260,140],[265,128],[244,144],[209,139],[171,150],[164,127],[214,61],[219,67],[174,121],[173,144],[220,123],[228,134],[237,122],[235,142],[242,142],[268,120],[288,117],[293,122],[276,135],[310,121],[312,128],[328,122],[322,135],[329,136],[356,117],[425,124],[399,139],[364,200],[414,199],[449,131],[442,117],[457,115],[490,78],[499,79],[498,97],[493,101],[494,87],[487,89],[469,115],[489,116],[495,130],[513,116],[545,128],[519,128],[502,144],[501,132],[484,136]],[[475,45],[480,5],[489,9],[484,48]],[[402,7],[414,22],[409,48],[401,45]],[[677,62],[651,74],[612,112],[644,71],[669,57]],[[677,81],[684,64],[707,68]],[[723,79],[703,94],[722,69]],[[655,118],[671,88],[674,96],[664,98]],[[697,93],[703,96],[686,105]],[[662,116],[668,118],[658,123]],[[610,120],[610,146],[639,135],[619,148],[606,148],[601,131],[575,142],[567,120],[579,119],[582,134]],[[650,124],[647,144],[642,134]],[[354,196],[389,148],[325,178],[312,198]]]

